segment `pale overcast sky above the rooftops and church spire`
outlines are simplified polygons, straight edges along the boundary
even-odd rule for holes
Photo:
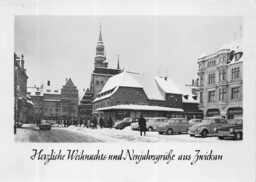
[[[175,84],[197,79],[198,57],[241,38],[243,17],[16,16],[15,50],[24,55],[28,87],[71,78],[90,86],[100,22],[109,68],[161,77]],[[243,34],[243,29],[242,29]],[[243,38],[243,36],[242,36]]]

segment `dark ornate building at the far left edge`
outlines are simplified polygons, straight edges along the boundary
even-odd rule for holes
[[[24,56],[14,53],[14,121],[29,123],[33,121],[33,102],[27,96],[28,75],[24,68]],[[16,118],[15,118],[16,116]]]

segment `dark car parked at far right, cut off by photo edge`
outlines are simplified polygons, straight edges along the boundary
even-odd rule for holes
[[[214,128],[214,132],[221,140],[229,137],[234,140],[243,140],[243,118],[232,119],[228,125]]]

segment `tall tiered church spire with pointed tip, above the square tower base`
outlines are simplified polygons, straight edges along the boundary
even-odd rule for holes
[[[96,56],[94,58],[94,67],[108,68],[108,62],[106,61],[106,53],[104,54],[104,44],[101,34],[101,22],[100,22],[100,35],[99,41],[96,47]]]

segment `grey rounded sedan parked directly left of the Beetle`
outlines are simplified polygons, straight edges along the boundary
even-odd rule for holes
[[[188,123],[186,118],[170,118],[167,123],[158,125],[157,132],[159,134],[167,133],[168,135],[176,132],[188,132],[188,128],[192,125]]]

